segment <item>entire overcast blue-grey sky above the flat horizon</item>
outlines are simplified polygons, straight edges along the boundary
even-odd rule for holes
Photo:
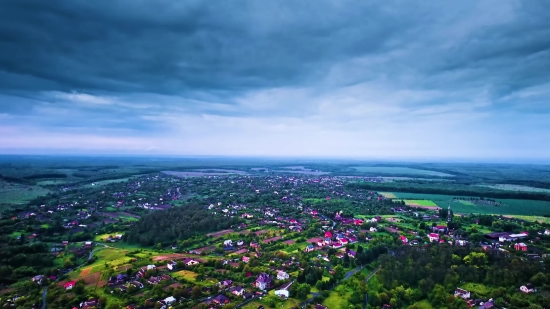
[[[547,1],[0,10],[0,153],[550,158]]]

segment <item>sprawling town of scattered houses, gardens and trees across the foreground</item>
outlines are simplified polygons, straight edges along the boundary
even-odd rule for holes
[[[2,215],[2,277],[22,284],[4,289],[2,300],[42,308],[43,298],[47,308],[84,309],[547,302],[548,223],[455,214],[451,201],[447,209],[411,207],[351,181],[159,173],[85,190],[62,187],[37,201],[44,204]],[[438,258],[435,252],[449,260],[426,260]],[[438,263],[451,270],[401,282],[396,263],[417,255],[434,272]],[[507,263],[521,272],[498,274],[497,265]],[[457,280],[465,269],[478,277]],[[495,281],[480,280],[481,273]]]

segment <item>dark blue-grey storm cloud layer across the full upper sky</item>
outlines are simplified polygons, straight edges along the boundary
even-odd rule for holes
[[[550,10],[537,1],[516,5],[509,23],[482,24],[459,38],[447,34],[449,23],[490,11],[480,12],[477,2],[17,0],[2,6],[4,91],[226,95],[315,83],[338,61],[412,46],[418,54],[385,63],[385,75],[397,77],[406,67],[418,74],[418,87],[489,82],[504,95],[546,80],[543,68],[550,66]],[[455,44],[430,45],[447,35]],[[465,73],[448,75],[457,70]],[[350,82],[379,74],[362,72]]]

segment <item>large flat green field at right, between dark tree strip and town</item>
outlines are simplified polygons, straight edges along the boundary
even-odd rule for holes
[[[452,202],[454,195],[441,194],[423,194],[423,193],[403,193],[392,192],[399,200],[415,200],[424,202],[433,202],[441,208],[447,208],[449,202],[455,213],[478,213],[495,215],[514,215],[514,216],[543,216],[550,213],[550,202],[534,200],[517,199],[494,199],[502,203],[502,206],[474,204],[470,201]],[[528,220],[522,218],[524,220]]]

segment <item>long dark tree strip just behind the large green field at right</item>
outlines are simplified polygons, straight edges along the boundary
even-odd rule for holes
[[[391,182],[391,183],[350,183],[351,188],[372,190],[372,191],[392,191],[407,193],[424,194],[442,194],[459,196],[476,196],[501,199],[521,199],[550,201],[550,194],[540,192],[517,192],[487,189],[483,187],[472,187],[469,185],[445,182]]]

